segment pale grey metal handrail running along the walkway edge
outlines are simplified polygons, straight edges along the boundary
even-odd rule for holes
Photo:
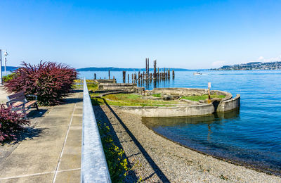
[[[96,117],[84,78],[81,182],[111,182]]]

